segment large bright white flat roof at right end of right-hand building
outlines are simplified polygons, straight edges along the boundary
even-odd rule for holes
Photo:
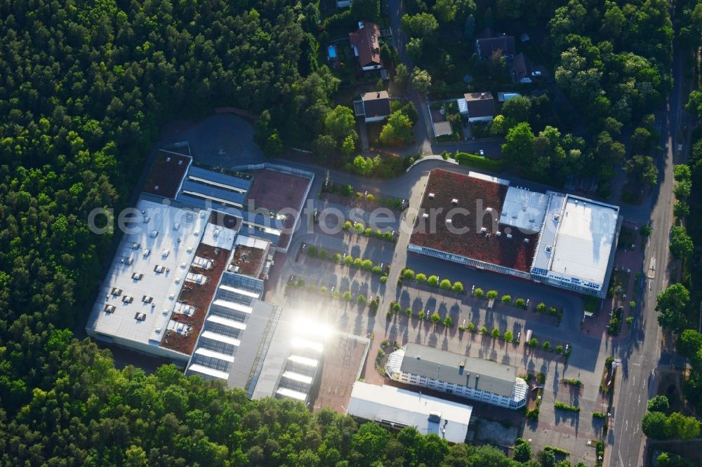
[[[550,271],[597,284],[607,274],[619,208],[567,195]]]

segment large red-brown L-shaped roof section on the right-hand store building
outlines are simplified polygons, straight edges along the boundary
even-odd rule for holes
[[[524,235],[517,229],[508,230],[508,227],[499,225],[507,189],[507,185],[496,182],[448,170],[432,170],[410,243],[518,271],[529,271],[538,234]],[[433,199],[430,194],[434,195]],[[453,199],[458,201],[456,205],[453,205]],[[462,210],[451,212],[454,208]],[[491,212],[488,208],[491,208]],[[480,220],[476,215],[479,212],[484,214]],[[428,219],[423,217],[424,213],[429,215]],[[447,215],[455,229],[468,227],[468,231],[464,234],[451,232],[446,224]],[[435,222],[431,222],[432,218],[436,219]],[[481,228],[486,229],[483,234],[480,233]],[[497,231],[501,231],[501,236],[496,235]],[[508,233],[512,238],[507,238]],[[529,239],[529,243],[524,242],[525,238]]]

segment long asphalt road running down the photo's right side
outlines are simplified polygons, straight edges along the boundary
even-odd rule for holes
[[[656,368],[667,365],[669,356],[661,358],[661,330],[656,320],[656,295],[668,286],[673,264],[668,255],[668,236],[673,224],[673,165],[685,160],[677,154],[677,135],[680,128],[694,123],[684,112],[689,88],[684,83],[684,56],[674,44],[674,87],[668,99],[668,108],[656,116],[665,153],[658,161],[657,191],[651,196],[651,225],[653,234],[647,245],[644,269],[655,258],[656,271],[643,288],[641,316],[635,320],[630,333],[630,345],[623,345],[618,357],[623,365],[615,386],[614,429],[609,431],[608,454],[610,466],[644,465],[644,440],[641,419],[646,412],[648,398],[656,393]],[[664,361],[663,361],[664,360]]]

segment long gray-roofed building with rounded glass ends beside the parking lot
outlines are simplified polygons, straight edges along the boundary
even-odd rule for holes
[[[412,342],[388,356],[385,372],[400,383],[508,409],[524,407],[529,393],[516,367]]]

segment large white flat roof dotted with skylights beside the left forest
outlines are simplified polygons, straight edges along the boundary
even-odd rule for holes
[[[133,210],[135,222],[127,225],[100,286],[88,333],[153,346],[161,342],[208,215],[152,199],[143,195]],[[113,295],[113,289],[121,292]],[[107,305],[114,306],[113,313],[105,311]],[[137,313],[144,313],[143,320]]]

